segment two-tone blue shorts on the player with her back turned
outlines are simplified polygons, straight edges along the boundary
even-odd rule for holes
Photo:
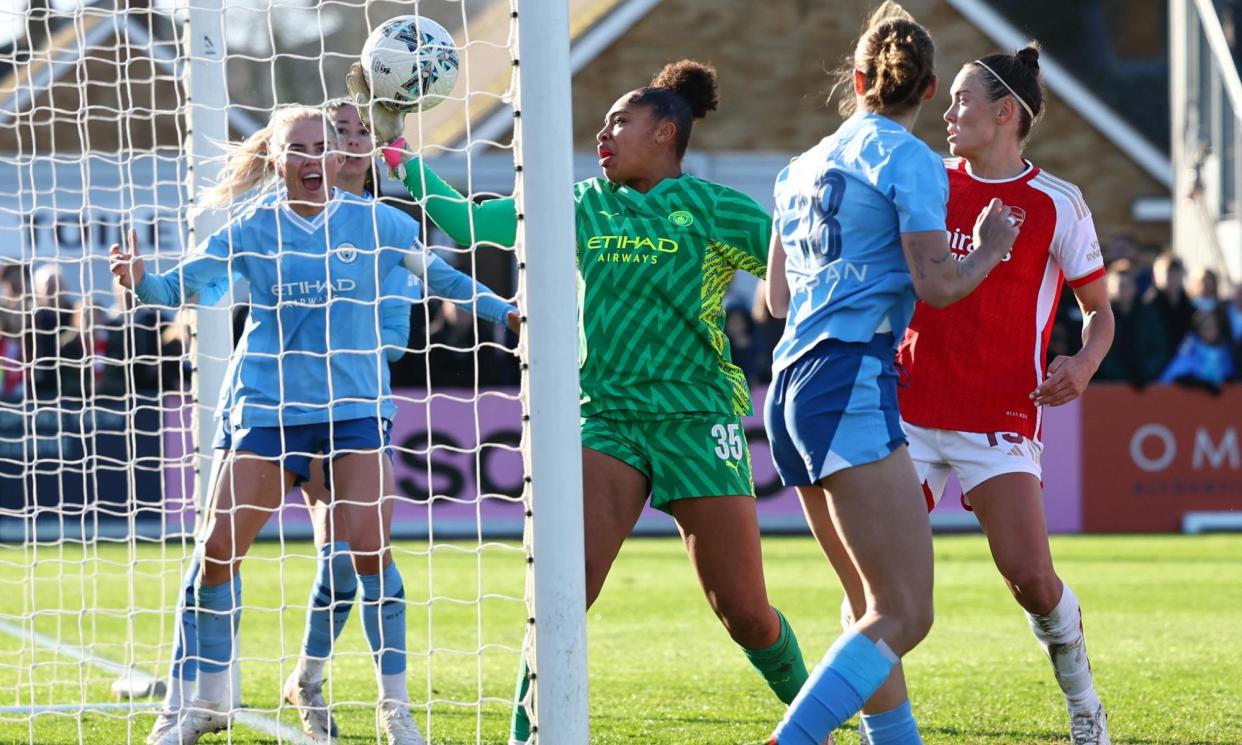
[[[905,445],[895,356],[892,334],[866,343],[828,339],[776,374],[764,423],[786,487],[817,484]]]

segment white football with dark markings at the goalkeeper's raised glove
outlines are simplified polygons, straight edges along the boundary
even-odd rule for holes
[[[389,19],[363,45],[371,96],[400,112],[427,111],[453,91],[461,58],[452,35],[431,19]]]

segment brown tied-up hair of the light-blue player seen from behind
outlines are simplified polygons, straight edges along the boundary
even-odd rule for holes
[[[853,57],[837,71],[828,101],[842,86],[853,89],[854,71],[866,83],[862,99],[867,111],[902,114],[919,104],[935,78],[935,45],[914,16],[887,0],[867,19]],[[843,117],[852,115],[856,108],[856,98],[848,94],[838,104]]]

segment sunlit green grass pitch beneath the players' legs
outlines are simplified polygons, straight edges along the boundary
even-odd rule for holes
[[[977,535],[936,538],[936,623],[907,657],[915,714],[930,744],[1068,743],[1061,694]],[[520,642],[523,564],[512,544],[401,544],[410,692],[435,745],[503,744]],[[797,630],[809,663],[838,633],[841,591],[807,538],[765,540],[769,594]],[[243,698],[277,713],[279,683],[302,633],[313,548],[261,544],[243,569]],[[1242,744],[1242,536],[1053,539],[1057,566],[1084,607],[1097,683],[1113,741]],[[103,658],[166,659],[169,623],[155,612],[176,594],[180,546],[0,546],[0,620],[41,615],[36,631],[93,642]],[[37,560],[37,561],[36,561]],[[31,565],[37,580],[30,582]],[[482,597],[479,601],[478,598]],[[81,613],[87,607],[106,612]],[[430,605],[428,605],[430,603]],[[127,612],[125,608],[139,608]],[[428,610],[430,608],[430,610]],[[20,623],[20,620],[17,621]],[[733,647],[702,598],[681,544],[631,540],[589,616],[591,743],[760,743],[781,705]],[[130,639],[129,643],[125,639]],[[375,743],[374,683],[355,616],[329,668],[342,744]],[[427,651],[432,649],[428,654]],[[479,651],[482,649],[482,651]],[[144,667],[155,672],[155,666]],[[0,634],[0,707],[114,702],[116,675]],[[427,731],[426,705],[431,726]],[[479,703],[482,702],[482,703]],[[0,714],[0,744],[140,743],[148,710]],[[841,745],[856,738],[837,733]],[[225,743],[214,736],[204,743]],[[232,743],[273,738],[238,726]],[[560,745],[560,744],[551,744]]]

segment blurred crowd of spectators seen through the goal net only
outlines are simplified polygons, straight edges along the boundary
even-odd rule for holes
[[[474,268],[497,273],[494,266]],[[505,292],[510,272],[501,273],[505,276],[486,282]],[[0,264],[0,405],[57,401],[72,407],[189,390],[191,309],[135,305],[119,286],[103,304],[70,287],[53,263]],[[246,303],[236,303],[232,315],[236,343]],[[479,323],[451,303],[412,303],[410,349],[392,365],[392,385],[517,385],[515,346],[508,330]]]

